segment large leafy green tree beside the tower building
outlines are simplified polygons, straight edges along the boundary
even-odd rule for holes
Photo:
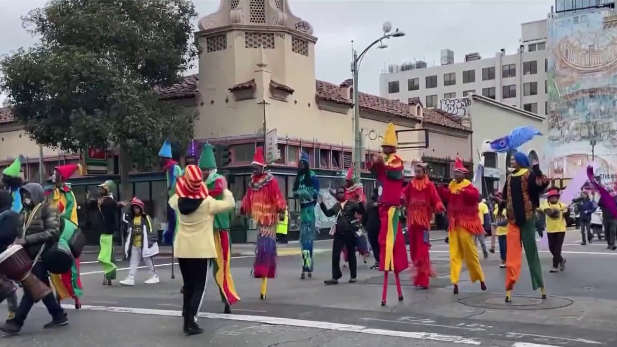
[[[194,112],[160,100],[197,56],[190,0],[52,0],[23,18],[39,42],[4,57],[0,88],[36,143],[78,153],[117,148],[128,172],[151,167],[162,141],[184,146]]]

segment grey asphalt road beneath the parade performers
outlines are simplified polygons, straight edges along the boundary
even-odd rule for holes
[[[358,283],[323,285],[330,274],[329,241],[315,244],[315,275],[304,281],[299,279],[297,244],[281,247],[278,278],[268,281],[268,298],[262,301],[259,280],[250,277],[252,247],[237,245],[234,253],[240,255],[232,261],[232,272],[242,301],[233,314],[222,314],[210,278],[199,320],[205,333],[191,338],[180,332],[181,276],[176,266],[176,278],[170,278],[170,257],[156,261],[162,283],[142,284],[147,278],[143,269],[138,284],[125,288],[102,286],[96,255],[86,254],[81,268],[85,306],[68,311],[70,325],[43,330],[49,316],[40,306],[33,309],[22,335],[6,339],[32,346],[616,346],[617,252],[602,242],[580,246],[579,238],[578,232],[568,232],[565,272],[549,274],[550,253],[540,251],[549,293],[544,301],[531,290],[523,264],[513,303],[503,302],[505,271],[499,268],[498,254],[482,260],[486,292],[468,282],[464,270],[462,292],[452,295],[448,245],[435,240],[431,257],[437,277],[431,289],[416,290],[405,272],[404,301],[397,301],[391,278],[386,307],[379,304],[383,275],[368,269],[371,259],[363,264],[358,258]],[[128,264],[120,261],[118,266],[125,269]],[[120,270],[119,279],[125,275],[126,270]],[[344,279],[348,276],[345,270]],[[70,308],[72,303],[65,305]]]

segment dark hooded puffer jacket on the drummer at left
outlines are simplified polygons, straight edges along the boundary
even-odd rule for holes
[[[36,257],[41,247],[47,244],[46,249],[60,238],[60,219],[58,211],[44,201],[43,187],[38,183],[26,183],[22,190],[28,191],[34,203],[34,207],[23,209],[24,225],[30,220],[30,224],[24,233],[25,249],[31,259]],[[43,250],[41,256],[46,252]]]

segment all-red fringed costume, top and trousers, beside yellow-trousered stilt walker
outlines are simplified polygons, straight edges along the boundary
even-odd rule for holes
[[[434,212],[444,211],[444,204],[435,185],[426,175],[422,178],[413,178],[403,190],[403,198],[407,205],[407,233],[413,263],[411,272],[413,285],[426,289],[429,286],[429,278],[435,275],[429,256],[431,217]]]

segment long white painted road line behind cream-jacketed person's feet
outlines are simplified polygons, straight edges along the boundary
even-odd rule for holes
[[[64,309],[75,309],[71,305],[62,305]],[[117,313],[130,313],[130,314],[146,314],[150,316],[168,316],[168,317],[180,317],[181,311],[171,311],[162,309],[140,309],[133,307],[113,307],[113,306],[81,306],[81,311],[102,311],[102,312],[117,312]],[[384,330],[368,328],[363,325],[353,324],[339,324],[331,322],[318,322],[315,320],[302,320],[302,319],[288,319],[280,317],[266,317],[266,316],[247,316],[242,314],[220,314],[201,312],[199,317],[209,319],[225,319],[225,320],[239,320],[243,322],[253,322],[270,325],[285,325],[289,327],[301,327],[301,328],[314,328],[323,330],[337,330],[339,332],[351,332],[351,333],[365,333],[370,335],[381,335],[389,337],[403,337],[403,338],[415,338],[418,340],[431,340],[442,341],[450,343],[460,343],[462,345],[475,345],[479,346],[482,343],[473,338],[466,338],[455,335],[442,335],[437,333],[426,332],[400,332],[396,330]],[[519,346],[517,346],[519,347]],[[520,346],[524,347],[524,346]],[[534,347],[534,346],[531,346]],[[551,346],[552,347],[552,346]]]

